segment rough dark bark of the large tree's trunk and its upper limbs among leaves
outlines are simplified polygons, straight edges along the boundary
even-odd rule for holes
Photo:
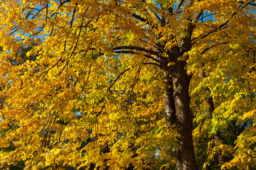
[[[179,4],[182,6],[183,1]],[[191,6],[192,0],[188,1],[187,8]],[[168,14],[162,16],[162,26],[167,26],[169,23],[168,16],[173,15],[173,8],[163,8]],[[176,157],[176,165],[178,170],[197,170],[196,158],[194,153],[194,144],[192,138],[192,122],[193,118],[190,112],[190,96],[189,83],[191,77],[187,75],[186,65],[188,56],[183,55],[191,50],[191,35],[194,30],[194,25],[191,23],[191,18],[187,18],[188,26],[184,30],[188,33],[187,37],[183,39],[182,47],[174,45],[171,49],[165,52],[169,56],[166,59],[161,58],[163,68],[167,68],[164,75],[165,78],[165,115],[167,127],[169,128],[173,123],[177,127],[179,133],[179,148],[174,148]],[[161,38],[161,35],[160,35]],[[159,45],[161,51],[165,47],[166,42]],[[182,60],[180,60],[182,58]],[[168,66],[169,62],[174,62],[174,65]],[[169,78],[172,76],[172,79]]]

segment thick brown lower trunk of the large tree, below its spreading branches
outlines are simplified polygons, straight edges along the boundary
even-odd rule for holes
[[[165,91],[165,110],[168,108],[169,110],[167,111],[169,111],[169,113],[167,111],[165,111],[165,113],[167,115],[173,115],[173,113],[175,113],[175,119],[172,119],[172,117],[170,117],[171,119],[167,119],[167,125],[175,123],[177,131],[179,132],[179,148],[173,149],[176,156],[177,169],[197,170],[192,138],[193,118],[189,106],[189,82],[191,77],[187,75],[187,71],[184,69],[185,66],[186,62],[177,61],[172,69],[173,82],[165,81],[165,83],[169,83],[169,86],[166,86]],[[173,89],[170,90],[167,87],[172,87]],[[172,104],[172,97],[169,96],[168,98],[166,95],[169,93],[173,93],[173,99],[176,103],[176,112],[173,112],[173,110],[175,110],[175,106]],[[169,101],[167,102],[167,100]]]

